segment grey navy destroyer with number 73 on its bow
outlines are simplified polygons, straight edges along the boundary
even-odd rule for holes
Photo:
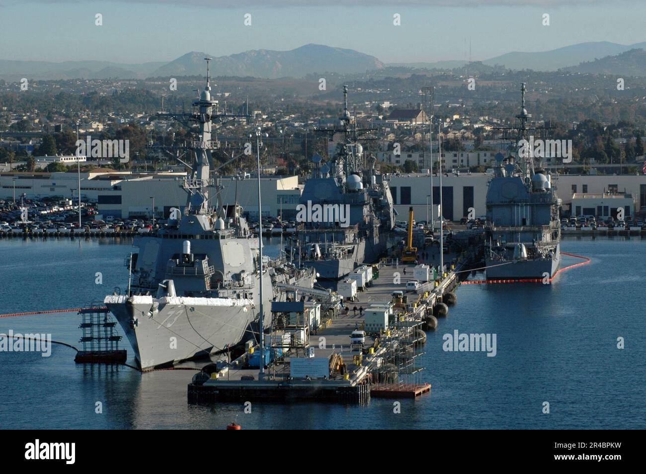
[[[258,339],[260,281],[267,325],[270,302],[279,296],[275,285],[312,288],[315,281],[313,271],[286,261],[261,264],[259,239],[249,230],[242,208],[236,203],[225,211],[220,203],[218,184],[209,173],[217,101],[211,100],[208,61],[206,87],[188,115],[197,122],[199,136],[191,144],[190,177],[181,182],[187,204],[172,210],[163,228],[136,239],[139,252],[127,261],[127,294],[104,301],[144,371]],[[209,197],[209,189],[216,189],[214,196]]]

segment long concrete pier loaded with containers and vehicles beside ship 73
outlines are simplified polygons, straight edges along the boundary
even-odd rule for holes
[[[446,316],[447,305],[455,303],[457,272],[467,263],[464,255],[457,257],[444,271],[431,272],[435,279],[406,292],[415,265],[383,259],[373,267],[379,276],[357,293],[355,301],[333,307],[328,299],[326,307],[326,300],[320,299],[320,323],[315,325],[309,323],[302,301],[275,302],[271,334],[265,336],[267,368],[262,380],[258,346],[248,347],[236,360],[218,363],[215,371],[196,374],[188,385],[189,404],[249,400],[362,404],[371,396],[416,398],[430,393],[430,383],[422,378],[424,367],[418,364],[426,342],[422,327],[435,329],[433,315]],[[395,292],[403,295],[395,297]],[[356,313],[355,305],[361,308]],[[384,323],[375,329],[371,321],[380,311]],[[366,332],[362,345],[351,343],[355,330]]]

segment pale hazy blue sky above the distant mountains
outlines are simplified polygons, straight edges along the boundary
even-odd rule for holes
[[[468,59],[471,43],[479,60],[585,41],[639,43],[645,18],[643,0],[0,0],[0,59],[140,63],[320,43],[410,62]]]

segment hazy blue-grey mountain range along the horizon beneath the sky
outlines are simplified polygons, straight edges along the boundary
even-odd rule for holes
[[[543,52],[510,52],[479,61],[485,66],[506,69],[552,71],[558,69],[580,72],[614,72],[616,74],[646,76],[643,57],[631,50],[646,49],[645,43],[619,45],[601,41],[579,43]],[[630,52],[625,56],[626,52]],[[17,81],[31,79],[143,79],[148,77],[203,76],[203,58],[213,58],[214,76],[253,76],[275,79],[301,78],[307,74],[336,72],[362,73],[384,67],[412,67],[417,69],[455,69],[467,61],[435,61],[384,64],[375,56],[351,49],[309,44],[289,51],[267,49],[250,50],[230,56],[214,56],[204,52],[189,52],[169,63],[163,61],[141,64],[110,63],[108,61],[8,61],[0,59],[0,79]],[[612,59],[614,58],[614,59]]]

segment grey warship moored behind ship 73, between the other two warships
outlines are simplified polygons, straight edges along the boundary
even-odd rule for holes
[[[328,163],[322,163],[320,156],[313,158],[315,169],[300,197],[300,206],[307,209],[308,217],[319,206],[320,216],[331,218],[297,219],[302,224],[287,246],[287,254],[294,261],[315,268],[318,278],[331,280],[382,257],[395,224],[388,181],[379,173],[377,160],[365,156],[357,142],[357,133],[371,129],[358,129],[356,117],[351,118],[347,86],[339,120],[340,129],[317,130],[328,134],[330,140],[340,135],[342,142]]]

